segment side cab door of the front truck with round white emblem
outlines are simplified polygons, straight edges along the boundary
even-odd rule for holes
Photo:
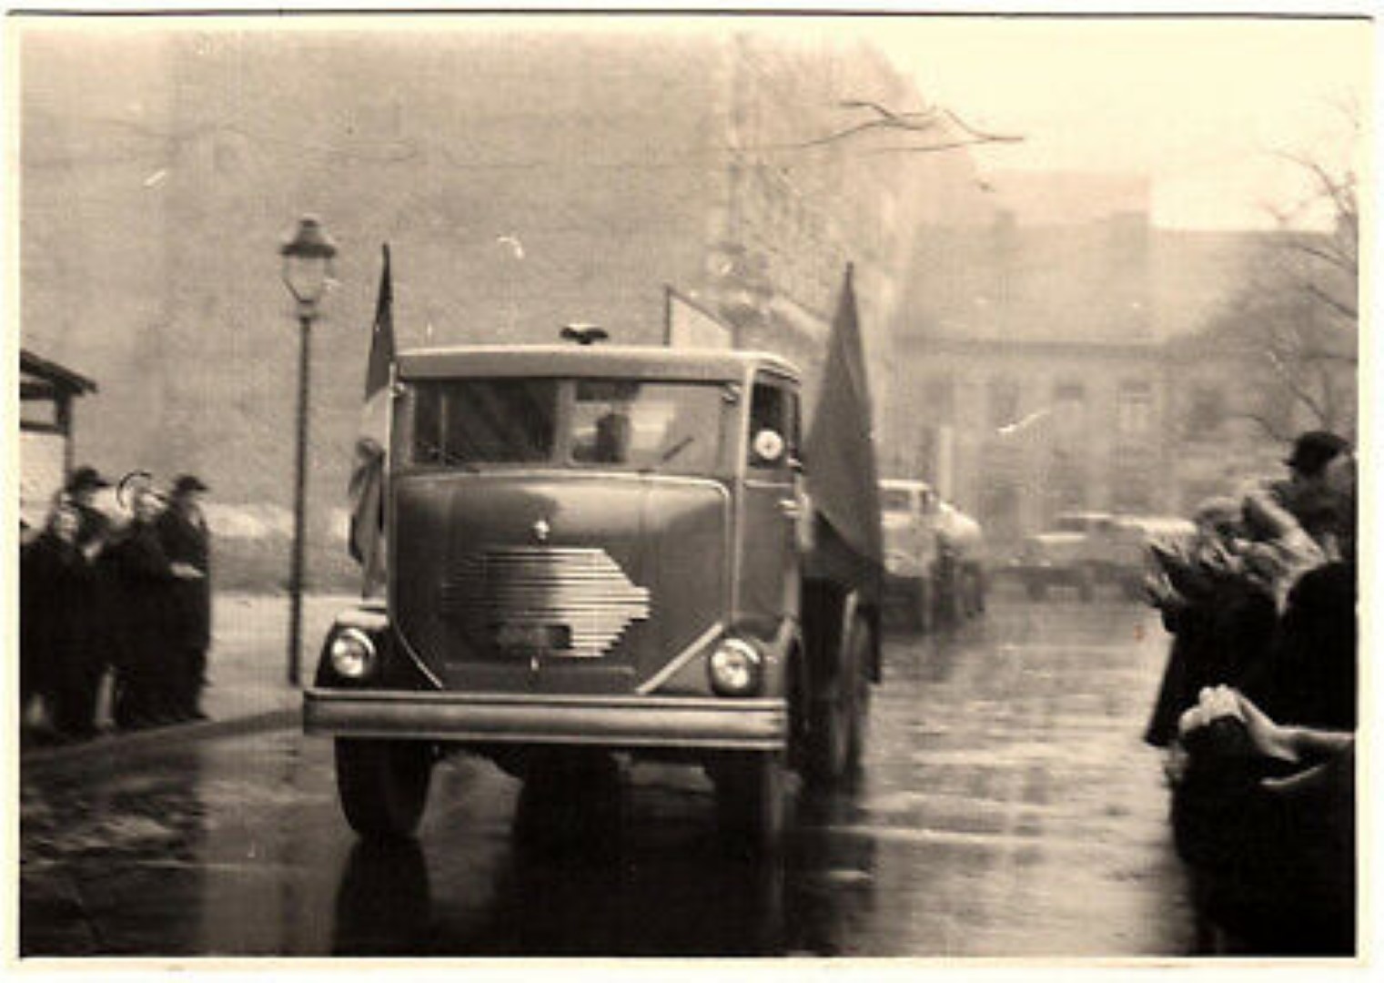
[[[772,377],[754,381],[745,446],[739,527],[739,613],[774,631],[797,615],[797,392]],[[776,438],[776,439],[775,439]]]

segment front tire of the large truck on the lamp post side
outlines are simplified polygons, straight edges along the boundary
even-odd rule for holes
[[[407,839],[418,831],[433,752],[417,741],[336,739],[336,792],[364,839]]]

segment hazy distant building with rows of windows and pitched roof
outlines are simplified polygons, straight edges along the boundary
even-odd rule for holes
[[[1154,228],[1135,180],[995,180],[988,217],[919,233],[889,472],[936,480],[1006,548],[1063,511],[1189,515],[1279,475],[1291,436],[1323,425],[1312,402],[1354,439],[1354,325],[1297,367],[1316,400],[1265,345],[1269,317],[1294,343],[1323,332],[1306,330],[1322,312],[1257,299],[1291,292],[1259,273],[1283,234]]]

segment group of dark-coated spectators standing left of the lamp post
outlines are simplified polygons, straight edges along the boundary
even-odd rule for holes
[[[21,530],[21,721],[51,742],[202,719],[210,565],[194,475],[122,479],[115,508],[78,468],[42,530]],[[104,681],[109,685],[102,685]],[[100,705],[102,692],[108,706]]]

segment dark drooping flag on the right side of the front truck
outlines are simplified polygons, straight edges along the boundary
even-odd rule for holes
[[[850,266],[832,321],[817,413],[803,450],[811,475],[812,508],[830,532],[825,540],[818,540],[826,547],[818,550],[818,559],[854,568],[873,579],[884,548],[869,381]],[[833,543],[851,555],[830,555],[841,552],[830,548]]]

